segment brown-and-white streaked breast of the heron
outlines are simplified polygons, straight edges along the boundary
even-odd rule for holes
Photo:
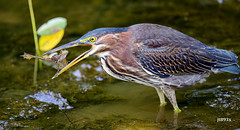
[[[131,64],[126,64],[119,58],[108,56],[102,57],[100,62],[103,70],[114,78],[153,87],[161,84],[161,80],[146,73],[134,60]]]

